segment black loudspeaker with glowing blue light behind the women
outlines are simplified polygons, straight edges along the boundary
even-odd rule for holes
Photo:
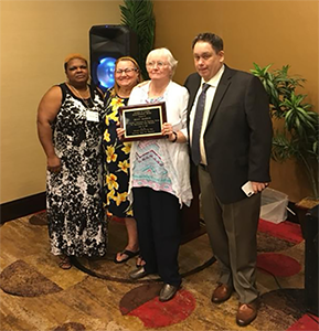
[[[124,25],[94,25],[89,30],[89,62],[93,83],[106,89],[114,85],[117,58],[137,56],[137,35]]]

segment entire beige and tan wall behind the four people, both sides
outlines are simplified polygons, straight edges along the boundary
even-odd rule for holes
[[[45,158],[35,115],[41,96],[64,81],[70,52],[88,56],[92,25],[119,23],[121,0],[2,0],[0,11],[0,204],[45,189]],[[220,34],[226,63],[248,71],[253,62],[291,65],[305,76],[305,93],[319,107],[319,2],[308,0],[153,0],[156,46],[179,60],[176,81],[193,71],[191,41],[203,31]],[[273,164],[272,186],[297,201],[309,191],[295,164]]]

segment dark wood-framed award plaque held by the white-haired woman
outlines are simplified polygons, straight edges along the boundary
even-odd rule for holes
[[[125,141],[166,137],[161,134],[167,121],[166,103],[120,107],[119,113]]]

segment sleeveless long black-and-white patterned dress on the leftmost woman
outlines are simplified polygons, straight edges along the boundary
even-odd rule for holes
[[[92,87],[88,106],[66,84],[60,87],[63,100],[52,130],[62,170],[59,173],[47,171],[46,181],[51,252],[54,255],[103,256],[107,248],[102,197],[104,102]],[[87,120],[87,110],[97,111],[98,121]]]

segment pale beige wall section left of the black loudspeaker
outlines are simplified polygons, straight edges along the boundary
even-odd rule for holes
[[[0,204],[45,190],[36,136],[42,95],[71,52],[89,55],[92,25],[119,24],[121,0],[1,0]]]

